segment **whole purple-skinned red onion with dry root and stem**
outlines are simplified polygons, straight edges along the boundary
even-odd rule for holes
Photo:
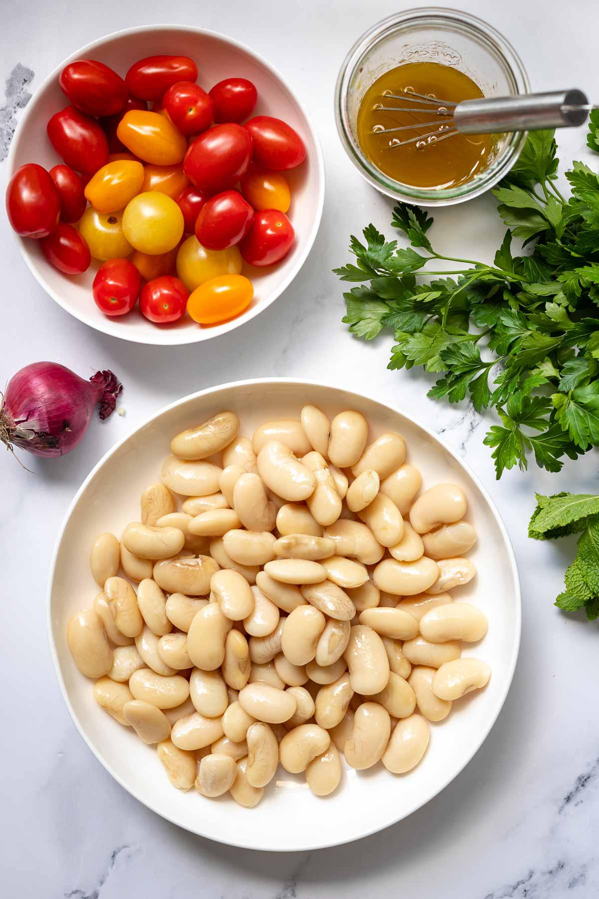
[[[85,381],[56,362],[33,362],[8,382],[0,407],[0,440],[36,456],[65,456],[82,440],[93,409],[108,418],[122,384],[111,371]]]

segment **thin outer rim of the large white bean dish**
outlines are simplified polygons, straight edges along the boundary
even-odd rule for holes
[[[498,700],[496,714],[495,714],[495,717],[493,717],[493,720],[490,722],[489,726],[480,732],[479,738],[476,741],[474,741],[474,747],[473,747],[471,753],[468,755],[468,757],[465,759],[465,761],[463,761],[463,764],[460,765],[459,769],[452,770],[450,772],[449,776],[446,779],[444,779],[442,785],[438,789],[436,789],[436,791],[434,793],[432,793],[430,796],[427,796],[427,798],[424,799],[422,802],[418,801],[413,806],[410,806],[407,810],[402,810],[401,814],[398,814],[398,817],[394,818],[392,821],[388,821],[388,822],[382,823],[380,825],[375,825],[374,827],[370,828],[369,830],[361,833],[359,837],[351,837],[348,840],[347,839],[336,840],[336,839],[332,838],[330,841],[328,841],[326,843],[317,843],[317,844],[306,843],[305,845],[295,847],[293,850],[289,850],[289,849],[285,849],[285,848],[281,848],[281,847],[277,847],[277,846],[270,846],[270,845],[260,846],[260,848],[257,848],[255,846],[249,845],[247,842],[240,841],[239,839],[236,840],[235,837],[233,836],[233,833],[232,833],[231,838],[228,840],[223,840],[223,839],[217,840],[215,837],[211,836],[209,832],[205,832],[204,830],[200,830],[199,828],[197,828],[195,830],[190,830],[189,827],[187,827],[185,824],[182,824],[181,822],[175,820],[169,814],[163,814],[162,811],[159,811],[154,806],[154,803],[152,801],[146,801],[144,798],[138,796],[137,791],[130,788],[119,777],[119,775],[116,773],[116,771],[112,770],[110,765],[107,764],[101,758],[99,752],[96,752],[92,743],[90,743],[89,740],[87,739],[87,736],[84,733],[84,726],[78,720],[78,717],[75,714],[75,709],[73,708],[71,701],[68,697],[68,693],[66,691],[66,686],[65,686],[65,681],[63,680],[62,674],[60,672],[60,664],[58,662],[57,647],[55,645],[54,637],[52,634],[52,592],[53,592],[53,583],[54,583],[54,575],[55,575],[55,570],[56,570],[56,565],[57,565],[58,552],[60,550],[62,539],[63,539],[64,533],[66,530],[66,525],[67,525],[73,511],[75,510],[76,504],[79,502],[79,499],[80,499],[81,495],[84,493],[85,489],[87,488],[87,485],[92,481],[92,478],[98,473],[98,471],[100,471],[101,467],[103,467],[104,464],[109,460],[109,458],[114,453],[116,453],[117,450],[121,446],[123,446],[124,443],[126,443],[128,440],[130,440],[131,437],[133,437],[138,432],[142,431],[149,424],[151,424],[154,421],[161,418],[163,416],[163,414],[170,412],[172,409],[176,408],[177,406],[188,403],[190,400],[196,400],[203,396],[209,396],[210,394],[216,393],[219,390],[224,390],[224,389],[229,389],[229,388],[234,388],[234,387],[261,387],[261,386],[274,385],[274,384],[277,384],[277,385],[278,384],[301,385],[303,387],[324,387],[324,388],[327,388],[330,390],[343,390],[350,396],[358,396],[360,399],[366,399],[368,401],[372,401],[379,405],[383,405],[387,409],[390,409],[393,413],[402,415],[404,418],[408,419],[411,423],[414,423],[419,428],[421,428],[422,431],[425,432],[428,437],[432,438],[432,440],[434,442],[439,444],[442,449],[445,449],[445,451],[448,452],[449,455],[452,456],[455,461],[457,461],[458,465],[463,468],[463,470],[466,472],[466,474],[468,476],[471,477],[474,484],[480,490],[480,494],[482,495],[483,499],[487,503],[487,505],[489,507],[489,511],[491,512],[492,516],[494,517],[495,521],[497,522],[499,531],[504,540],[504,543],[505,543],[505,546],[507,549],[507,556],[509,559],[510,572],[511,572],[512,579],[514,581],[514,586],[515,586],[515,642],[514,642],[514,646],[513,646],[513,650],[512,650],[512,656],[511,656],[511,658],[509,660],[509,664],[508,664],[507,677],[506,677],[505,681],[503,682],[503,690],[502,690],[501,695]],[[388,403],[382,402],[380,399],[377,399],[374,396],[369,396],[367,394],[358,394],[355,390],[348,389],[347,387],[339,387],[335,384],[330,384],[330,383],[327,383],[324,381],[317,381],[317,380],[313,380],[313,379],[304,379],[304,378],[246,378],[246,379],[242,379],[242,380],[238,380],[238,381],[229,381],[229,382],[226,382],[225,384],[216,384],[213,387],[206,387],[204,390],[198,390],[195,393],[188,394],[187,396],[182,396],[181,399],[175,400],[174,402],[163,406],[161,409],[158,410],[158,412],[146,417],[142,422],[140,422],[137,425],[137,427],[135,427],[132,431],[128,432],[128,434],[126,434],[124,437],[122,437],[119,441],[117,441],[106,453],[104,453],[104,455],[96,463],[96,465],[94,465],[94,467],[92,467],[92,471],[85,478],[84,483],[79,487],[79,489],[77,490],[77,492],[75,494],[75,497],[73,498],[72,502],[69,504],[68,509],[66,511],[66,515],[65,515],[65,517],[61,523],[60,529],[58,531],[57,542],[54,547],[54,551],[52,553],[52,558],[51,558],[51,563],[50,563],[50,572],[49,572],[49,578],[48,578],[47,627],[48,627],[48,642],[49,642],[49,647],[50,647],[50,655],[52,658],[52,663],[54,665],[54,671],[57,676],[58,686],[62,693],[62,697],[65,701],[66,708],[68,709],[68,713],[71,716],[71,719],[73,720],[73,723],[75,724],[75,727],[78,730],[80,736],[84,740],[84,743],[87,744],[88,748],[92,751],[95,758],[101,763],[101,766],[105,770],[108,771],[108,773],[111,775],[111,777],[114,778],[122,788],[126,789],[127,792],[131,796],[136,798],[138,802],[142,803],[142,805],[151,809],[151,811],[153,811],[155,814],[158,814],[160,817],[164,818],[165,820],[167,820],[173,824],[176,824],[178,827],[182,827],[183,829],[188,830],[189,832],[196,833],[198,836],[204,837],[207,840],[214,840],[215,842],[224,843],[225,845],[228,845],[228,846],[239,847],[241,849],[251,849],[254,851],[269,851],[269,852],[296,851],[296,852],[300,852],[300,851],[308,851],[308,850],[313,851],[313,850],[318,850],[318,849],[329,849],[330,847],[343,845],[344,843],[347,843],[347,842],[353,842],[358,839],[361,840],[366,836],[370,836],[373,833],[382,831],[387,827],[391,827],[392,824],[398,823],[399,821],[403,820],[404,818],[409,817],[410,814],[413,814],[414,812],[418,811],[418,809],[422,808],[422,806],[426,806],[427,803],[431,801],[431,799],[434,799],[436,796],[438,796],[439,793],[441,793],[462,772],[462,770],[464,770],[464,768],[466,768],[466,766],[470,763],[470,761],[472,760],[472,758],[474,757],[476,752],[479,751],[482,743],[484,743],[484,741],[487,739],[493,725],[495,725],[495,723],[497,722],[499,714],[501,713],[501,709],[503,708],[504,703],[507,699],[507,693],[508,693],[510,686],[512,684],[512,681],[514,679],[515,665],[516,665],[517,659],[518,659],[518,652],[520,649],[520,637],[521,637],[521,630],[522,630],[522,593],[521,593],[521,589],[520,589],[520,579],[518,576],[518,569],[517,569],[517,565],[516,565],[516,561],[515,561],[514,549],[512,547],[511,540],[509,539],[506,525],[504,524],[495,503],[491,499],[489,492],[487,491],[487,488],[482,484],[482,482],[480,481],[480,478],[471,469],[470,465],[467,462],[465,462],[458,455],[457,451],[455,449],[453,449],[451,446],[449,446],[449,444],[442,437],[440,437],[438,434],[436,434],[436,432],[434,432],[431,428],[429,428],[427,426],[427,424],[422,423],[417,418],[414,418],[413,415],[402,410],[401,406],[399,406],[399,405],[389,405]],[[405,814],[403,814],[403,812],[405,812]]]

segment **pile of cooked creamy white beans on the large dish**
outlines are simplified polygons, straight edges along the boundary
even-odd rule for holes
[[[462,490],[415,499],[401,436],[367,439],[354,411],[329,422],[306,405],[251,441],[222,412],[172,440],[141,521],[94,542],[101,592],[68,644],[174,787],[252,807],[280,762],[326,796],[339,752],[405,773],[427,722],[489,681],[461,658],[487,619],[448,592],[475,574]]]

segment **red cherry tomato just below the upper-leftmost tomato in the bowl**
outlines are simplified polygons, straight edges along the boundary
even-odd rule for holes
[[[101,125],[88,115],[66,106],[48,121],[52,147],[75,172],[97,172],[108,162],[108,140]]]

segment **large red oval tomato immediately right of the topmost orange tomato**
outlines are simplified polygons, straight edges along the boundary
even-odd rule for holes
[[[216,193],[233,187],[245,174],[250,159],[251,134],[232,122],[200,134],[189,145],[183,171],[200,191]]]

